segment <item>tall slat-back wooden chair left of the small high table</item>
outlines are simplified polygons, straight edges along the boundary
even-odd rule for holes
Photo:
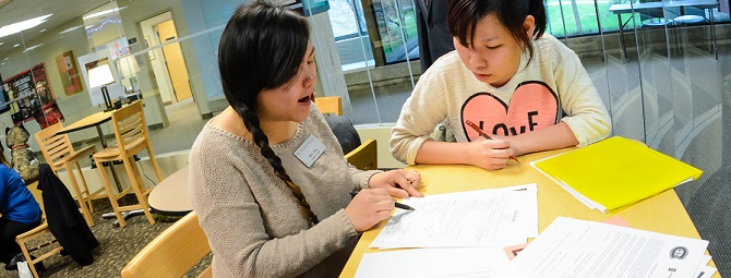
[[[62,129],[63,124],[59,122],[39,131],[35,134],[36,142],[38,142],[40,152],[44,154],[46,162],[53,170],[53,173],[58,176],[58,170],[64,169],[67,174],[69,174],[69,180],[71,180],[74,194],[76,194],[76,200],[79,200],[79,210],[81,210],[84,219],[86,219],[88,227],[93,227],[94,219],[92,218],[92,213],[94,213],[94,206],[92,205],[92,200],[97,198],[104,189],[89,193],[88,186],[86,185],[86,179],[84,179],[81,166],[79,166],[79,160],[96,153],[96,146],[92,145],[80,150],[74,150],[67,134],[56,134]],[[76,171],[81,178],[83,190],[76,182],[72,168],[73,165],[76,166]]]

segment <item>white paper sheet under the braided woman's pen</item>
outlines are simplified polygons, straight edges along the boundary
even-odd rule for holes
[[[507,246],[538,235],[535,183],[408,198],[371,247]]]

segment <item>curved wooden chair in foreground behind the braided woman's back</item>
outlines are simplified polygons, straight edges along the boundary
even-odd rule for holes
[[[122,278],[180,278],[208,253],[208,239],[191,211],[140,251],[122,268]],[[211,266],[199,277],[213,277]]]

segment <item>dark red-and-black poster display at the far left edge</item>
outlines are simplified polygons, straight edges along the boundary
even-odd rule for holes
[[[8,90],[10,117],[15,125],[36,120],[40,129],[63,121],[47,77],[46,67],[39,63],[3,81]]]

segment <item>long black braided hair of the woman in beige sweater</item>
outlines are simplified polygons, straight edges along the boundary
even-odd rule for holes
[[[243,4],[220,36],[218,71],[226,100],[243,120],[262,156],[287,183],[302,214],[316,225],[317,216],[287,174],[260,126],[256,104],[262,90],[278,88],[297,77],[309,37],[307,20],[292,11],[265,1]]]

